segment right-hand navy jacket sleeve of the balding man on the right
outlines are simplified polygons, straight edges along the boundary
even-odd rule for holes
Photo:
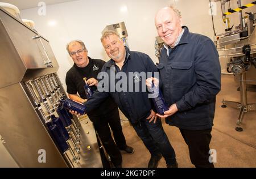
[[[195,87],[176,103],[181,112],[197,104],[208,103],[221,89],[220,61],[212,40],[201,42],[197,48],[193,73],[196,75]]]

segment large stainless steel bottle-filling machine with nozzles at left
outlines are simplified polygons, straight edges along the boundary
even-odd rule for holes
[[[103,167],[89,118],[80,123],[61,108],[67,96],[49,41],[1,7],[0,39],[0,142],[11,161],[19,167]]]

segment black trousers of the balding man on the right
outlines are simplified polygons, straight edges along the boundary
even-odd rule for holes
[[[190,160],[196,168],[214,168],[209,162],[209,144],[212,128],[207,130],[184,130],[180,129],[185,143],[188,145]]]

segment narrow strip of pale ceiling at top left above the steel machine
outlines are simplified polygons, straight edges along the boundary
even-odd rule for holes
[[[19,10],[38,7],[39,2],[45,2],[46,5],[54,5],[57,3],[63,3],[68,1],[75,1],[75,0],[0,0],[0,2],[7,2],[14,6],[17,6]]]

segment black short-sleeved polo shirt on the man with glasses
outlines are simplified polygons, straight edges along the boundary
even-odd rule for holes
[[[85,91],[84,91],[84,78],[90,79],[95,78],[97,79],[98,73],[100,73],[102,67],[104,66],[105,62],[101,59],[92,59],[89,58],[89,63],[86,67],[78,67],[75,63],[71,67],[71,69],[68,70],[66,74],[66,85],[67,85],[67,92],[71,95],[76,95],[77,92],[79,93],[79,96],[82,99],[86,99]],[[92,86],[92,90],[96,91],[97,87]],[[101,114],[106,114],[113,110],[117,105],[114,103],[114,101],[111,99],[111,97],[108,97],[106,100],[104,100],[101,105],[100,109],[94,109],[91,112],[88,113],[89,117],[95,117],[100,116]],[[104,110],[103,110],[104,109]]]

